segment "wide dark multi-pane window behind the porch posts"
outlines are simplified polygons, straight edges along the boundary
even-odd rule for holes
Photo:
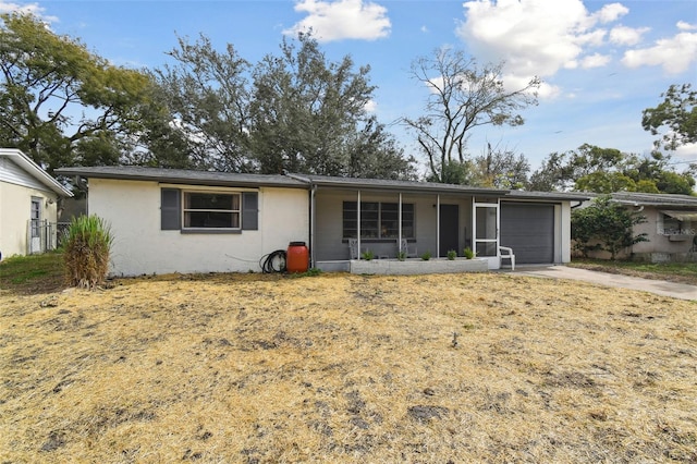
[[[343,236],[358,236],[356,202],[344,202]],[[398,239],[400,205],[396,203],[360,202],[360,239]],[[402,205],[402,237],[414,239],[414,204]]]

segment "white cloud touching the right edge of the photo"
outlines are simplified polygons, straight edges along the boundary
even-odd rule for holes
[[[660,39],[653,47],[627,50],[622,64],[627,68],[662,66],[668,74],[680,74],[697,62],[697,33],[678,33]]]

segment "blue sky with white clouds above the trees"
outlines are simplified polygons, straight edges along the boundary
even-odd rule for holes
[[[473,156],[491,144],[524,155],[533,170],[585,143],[647,155],[657,136],[641,127],[641,111],[672,84],[697,89],[695,0],[0,0],[0,12],[17,10],[129,68],[162,66],[178,37],[200,34],[257,63],[278,54],[283,37],[311,28],[330,61],[351,56],[370,66],[369,111],[421,162],[398,121],[424,113],[429,90],[409,68],[440,47],[503,61],[511,89],[542,80],[524,125],[478,127],[468,141]],[[697,145],[672,159],[678,170],[697,162]]]

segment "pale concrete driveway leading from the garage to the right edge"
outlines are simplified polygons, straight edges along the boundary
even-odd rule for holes
[[[641,279],[638,277],[570,268],[566,266],[519,266],[515,268],[514,273],[551,279],[583,280],[598,285],[640,290],[673,298],[697,300],[697,285]]]

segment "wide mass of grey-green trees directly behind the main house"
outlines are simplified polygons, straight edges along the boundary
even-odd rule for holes
[[[219,52],[203,35],[180,38],[174,64],[156,72],[180,134],[161,149],[219,171],[414,176],[414,160],[365,109],[368,68],[328,61],[309,34],[280,49],[253,66],[232,45]]]

